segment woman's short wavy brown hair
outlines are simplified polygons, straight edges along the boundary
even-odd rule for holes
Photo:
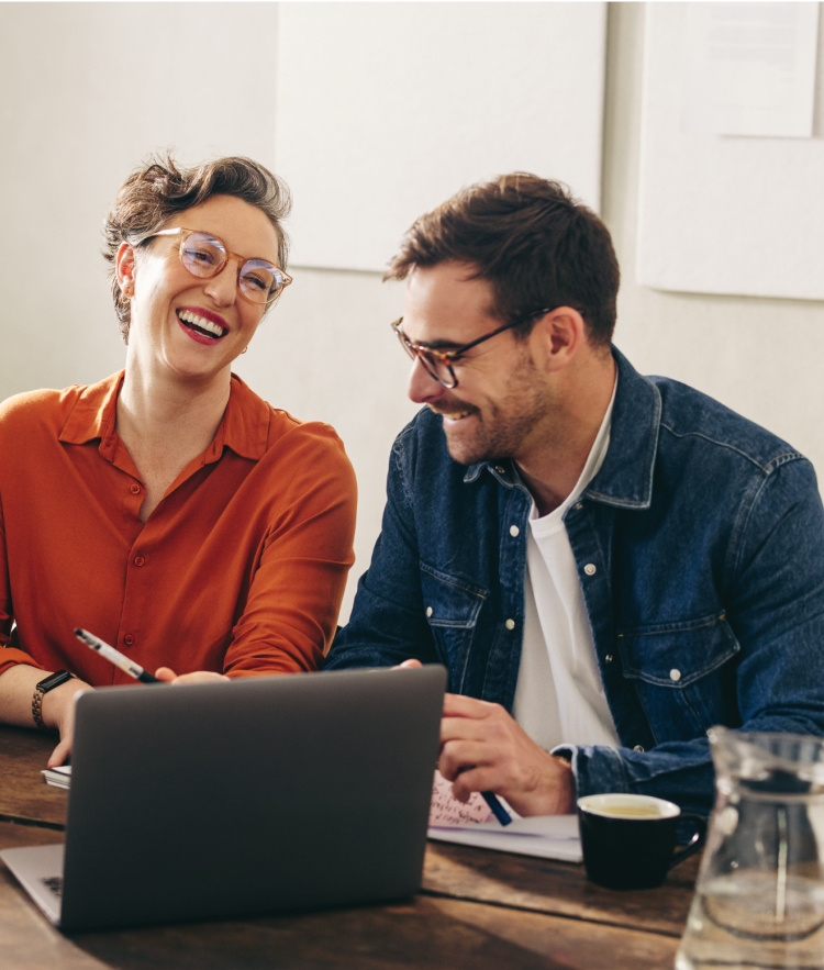
[[[234,196],[259,209],[278,234],[278,266],[286,269],[289,241],[281,220],[291,210],[289,187],[263,165],[242,156],[203,161],[178,168],[170,154],[156,155],[136,168],[121,186],[105,219],[103,257],[120,332],[129,343],[131,305],[118,283],[116,257],[121,243],[140,246],[176,213],[191,209],[212,196]]]

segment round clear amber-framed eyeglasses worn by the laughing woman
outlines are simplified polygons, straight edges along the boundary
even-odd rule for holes
[[[238,264],[237,287],[243,296],[253,303],[271,303],[280,296],[283,287],[292,281],[289,274],[283,272],[266,259],[246,259],[237,253],[230,253],[223,243],[210,233],[191,228],[164,228],[146,236],[143,242],[155,236],[180,236],[180,261],[192,276],[211,279],[218,276],[230,259]]]

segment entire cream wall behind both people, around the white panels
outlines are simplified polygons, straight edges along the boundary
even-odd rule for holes
[[[601,211],[623,270],[616,343],[641,370],[701,388],[824,469],[821,302],[635,282],[644,14],[644,4],[610,4]],[[131,168],[166,145],[185,163],[240,153],[272,165],[271,132],[252,105],[275,103],[277,30],[277,5],[259,2],[0,3],[0,397],[122,366],[99,256],[107,208]],[[219,81],[224,100],[181,98],[192,77]],[[48,238],[57,242],[44,246]],[[379,528],[391,441],[415,410],[389,332],[402,290],[375,272],[293,271],[237,369],[264,398],[331,422],[346,443],[361,501],[345,616]]]

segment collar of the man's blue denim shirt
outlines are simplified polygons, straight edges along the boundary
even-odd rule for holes
[[[622,509],[648,509],[653,500],[661,395],[658,388],[642,377],[616,347],[612,348],[612,355],[617,366],[617,389],[610,447],[582,498]],[[510,459],[470,465],[464,481],[476,481],[485,468],[506,488],[520,483]]]

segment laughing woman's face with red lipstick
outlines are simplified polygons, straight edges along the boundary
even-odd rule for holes
[[[212,196],[163,226],[208,232],[244,258],[278,264],[278,234],[269,220],[233,196]],[[210,279],[192,276],[178,256],[180,236],[153,239],[137,257],[118,254],[118,278],[130,293],[127,363],[186,379],[229,379],[232,361],[255,334],[266,309],[237,288],[238,263],[229,259]]]

